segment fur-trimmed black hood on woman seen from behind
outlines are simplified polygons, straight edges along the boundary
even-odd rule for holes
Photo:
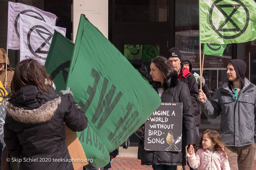
[[[17,91],[14,103],[4,103],[6,113],[17,122],[39,124],[48,122],[61,102],[57,92],[48,88],[49,93],[41,93],[35,85],[22,87]]]

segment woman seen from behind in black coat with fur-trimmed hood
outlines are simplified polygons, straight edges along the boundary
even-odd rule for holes
[[[4,142],[22,170],[74,169],[64,122],[73,131],[87,127],[72,94],[57,94],[49,77],[36,60],[21,61],[15,68],[10,98],[4,102]]]

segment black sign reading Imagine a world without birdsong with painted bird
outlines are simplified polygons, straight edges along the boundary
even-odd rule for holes
[[[162,102],[145,123],[145,150],[181,151],[182,103]]]

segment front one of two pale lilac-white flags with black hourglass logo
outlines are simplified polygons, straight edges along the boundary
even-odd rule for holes
[[[20,14],[20,61],[34,58],[44,65],[54,30],[66,35],[66,28]]]

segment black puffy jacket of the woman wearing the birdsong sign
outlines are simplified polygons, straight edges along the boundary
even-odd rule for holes
[[[182,110],[182,147],[181,152],[167,151],[146,151],[144,149],[144,138],[140,141],[138,156],[141,159],[141,165],[186,165],[186,144],[196,144],[196,120],[189,95],[188,86],[178,80],[178,73],[171,78],[171,83],[168,89],[164,89],[161,99],[162,102],[181,102],[183,103]],[[159,82],[153,82],[152,86],[160,87]],[[157,91],[157,90],[156,90]]]

